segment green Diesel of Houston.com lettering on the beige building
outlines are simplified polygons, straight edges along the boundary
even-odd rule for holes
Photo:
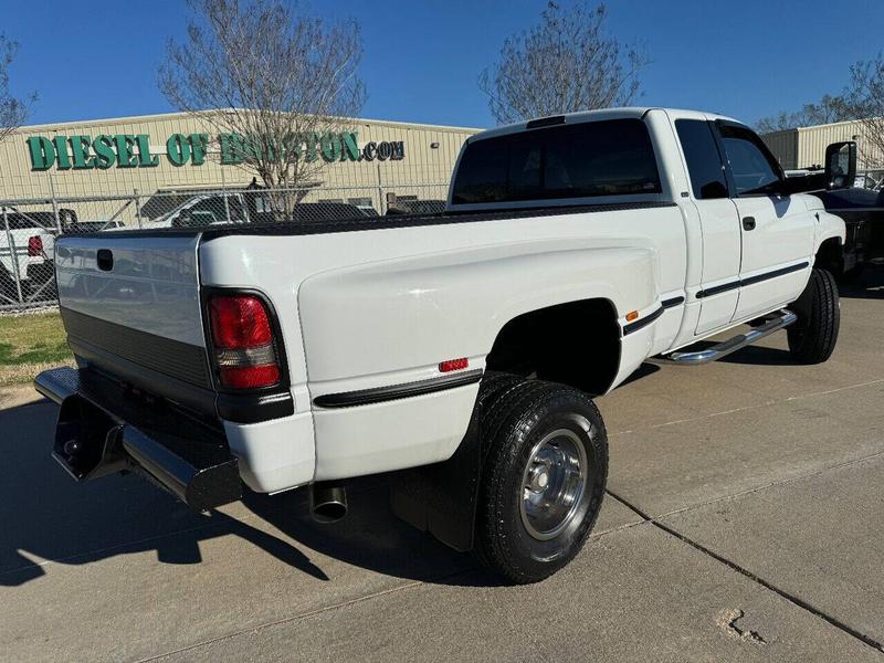
[[[166,158],[172,166],[202,166],[210,151],[209,134],[172,134],[166,140]],[[27,139],[31,170],[151,168],[159,165],[159,155],[151,152],[147,134],[102,134],[91,136],[31,136]],[[240,134],[219,134],[221,165],[242,164],[255,150],[267,149],[261,140]],[[306,139],[292,140],[283,146],[297,158],[307,161],[399,161],[406,151],[401,140],[367,143],[359,146],[356,131],[311,134]]]

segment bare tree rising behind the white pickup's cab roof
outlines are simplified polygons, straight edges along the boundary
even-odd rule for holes
[[[478,78],[494,118],[505,124],[631,103],[650,61],[608,34],[607,15],[604,4],[549,2],[539,24],[507,38],[498,62]]]

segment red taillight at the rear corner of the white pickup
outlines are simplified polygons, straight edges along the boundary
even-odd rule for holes
[[[280,382],[273,327],[261,299],[251,295],[212,297],[209,317],[221,385],[260,389]]]

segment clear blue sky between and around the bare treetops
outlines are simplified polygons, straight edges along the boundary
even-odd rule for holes
[[[568,0],[564,0],[567,4]],[[20,42],[18,93],[40,98],[29,124],[172,110],[156,86],[185,2],[0,0],[2,30]],[[362,24],[362,117],[484,127],[494,122],[476,78],[504,38],[546,0],[313,0]],[[755,122],[846,83],[849,66],[884,49],[884,1],[610,0],[609,27],[653,63],[642,105],[702,108]]]

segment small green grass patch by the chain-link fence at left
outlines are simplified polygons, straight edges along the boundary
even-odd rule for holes
[[[30,382],[73,360],[57,312],[0,316],[0,387]]]

